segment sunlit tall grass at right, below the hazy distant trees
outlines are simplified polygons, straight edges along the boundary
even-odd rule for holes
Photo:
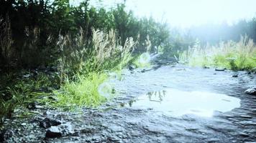
[[[220,42],[201,47],[199,42],[180,54],[180,61],[191,66],[215,66],[232,70],[256,67],[256,46],[252,39],[241,36],[240,41]]]

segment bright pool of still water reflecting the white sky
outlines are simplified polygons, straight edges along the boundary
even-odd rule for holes
[[[183,92],[178,89],[166,89],[142,95],[137,100],[129,102],[129,107],[153,109],[174,117],[184,114],[212,117],[215,111],[229,112],[240,107],[240,99],[211,92]]]

